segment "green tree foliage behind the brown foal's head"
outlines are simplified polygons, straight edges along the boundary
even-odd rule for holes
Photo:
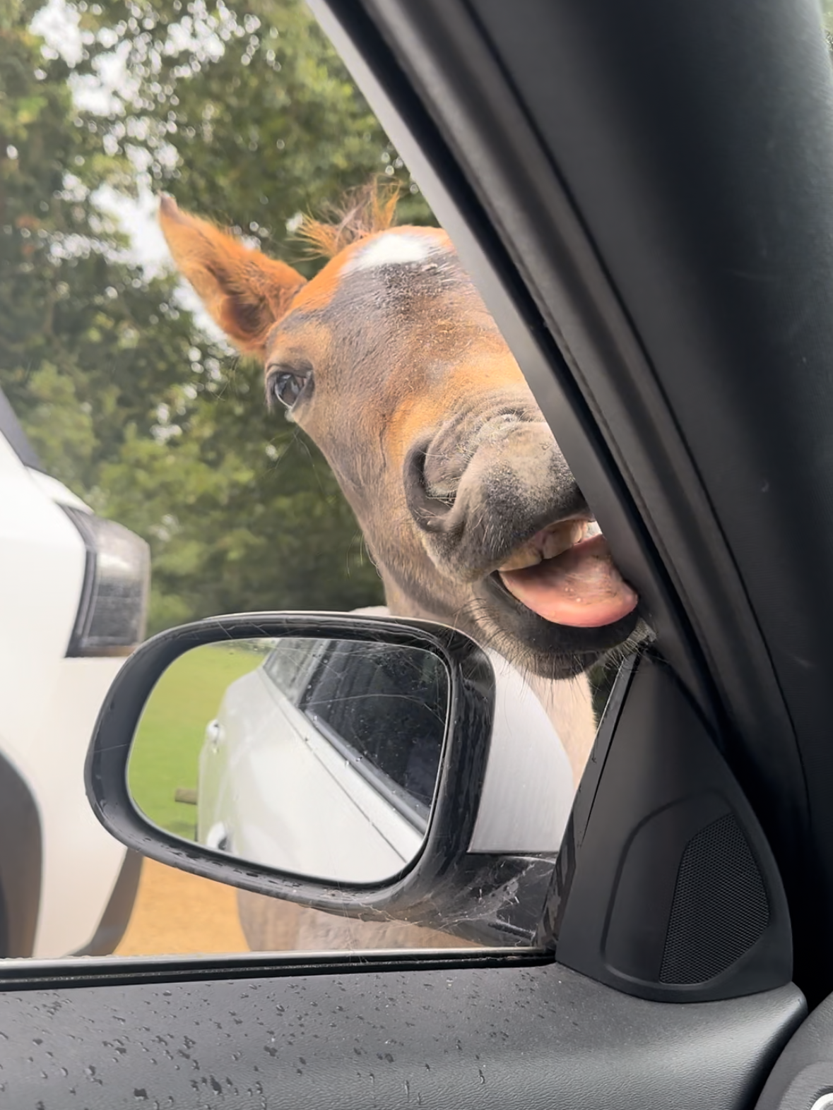
[[[431,221],[395,151],[298,0],[68,4],[71,64],[36,7],[0,0],[0,384],[47,470],[151,544],[151,630],[379,602],[327,464],[98,190],[167,190],[311,275],[288,223],[372,173]]]

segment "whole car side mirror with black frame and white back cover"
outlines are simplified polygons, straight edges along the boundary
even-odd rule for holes
[[[572,780],[543,713],[519,744],[494,710],[489,655],[442,625],[211,618],[155,636],[122,667],[87,793],[119,840],[193,874],[530,944]]]

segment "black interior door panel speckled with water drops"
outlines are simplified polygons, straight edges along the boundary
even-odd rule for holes
[[[295,957],[178,982],[188,965],[138,960],[111,965],[111,986],[18,965],[0,995],[3,1104],[730,1110],[804,1013],[793,986],[690,1006],[529,956],[373,962]]]

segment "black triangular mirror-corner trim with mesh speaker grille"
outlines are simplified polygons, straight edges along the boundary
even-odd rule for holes
[[[792,977],[781,876],[717,739],[655,652],[621,668],[538,942],[616,990],[706,1002]]]

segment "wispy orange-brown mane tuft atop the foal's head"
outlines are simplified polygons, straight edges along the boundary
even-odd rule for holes
[[[327,205],[322,214],[328,219],[304,216],[295,238],[307,244],[310,258],[334,259],[351,243],[393,226],[400,192],[397,182],[374,178]]]

